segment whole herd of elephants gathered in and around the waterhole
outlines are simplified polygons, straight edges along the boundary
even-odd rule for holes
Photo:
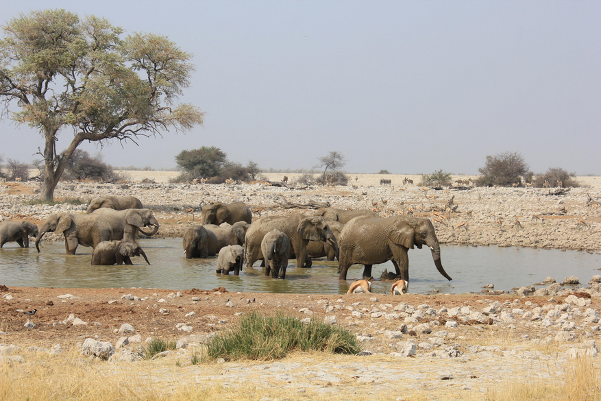
[[[53,213],[41,230],[27,221],[2,221],[0,247],[8,241],[28,247],[29,236],[34,236],[40,252],[42,236],[56,232],[64,234],[67,254],[75,254],[78,245],[93,247],[92,265],[132,265],[133,256],[143,256],[149,263],[136,239],[140,232],[152,236],[158,228],[151,210],[136,197],[97,197],[86,214]],[[407,252],[422,245],[430,247],[439,273],[452,280],[443,269],[429,219],[323,208],[309,216],[295,213],[252,221],[252,212],[243,202],[214,202],[204,206],[202,224],[188,226],[183,238],[186,258],[217,256],[217,273],[238,275],[243,263],[252,267],[262,260],[267,276],[282,279],[289,259],[295,258],[297,267],[311,267],[311,258],[326,257],[339,260],[340,280],[346,280],[352,265],[364,265],[363,278],[371,278],[373,265],[391,260],[395,276],[408,282]]]

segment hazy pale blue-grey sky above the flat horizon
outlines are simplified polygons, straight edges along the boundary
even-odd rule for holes
[[[175,167],[182,149],[309,169],[339,151],[350,173],[478,173],[519,151],[539,173],[601,174],[601,1],[14,1],[64,8],[195,55],[180,99],[204,127],[101,150],[114,166]],[[3,34],[2,34],[3,35]],[[71,131],[60,134],[58,149]],[[0,121],[0,154],[29,162],[42,136]],[[84,145],[95,154],[99,147]]]

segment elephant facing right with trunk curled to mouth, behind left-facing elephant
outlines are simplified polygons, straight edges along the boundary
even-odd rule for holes
[[[99,219],[108,223],[112,228],[112,239],[125,242],[133,242],[138,239],[138,232],[145,236],[156,234],[159,224],[150,209],[125,209],[113,210],[100,208],[92,213]],[[143,227],[154,227],[151,232],[145,232]]]

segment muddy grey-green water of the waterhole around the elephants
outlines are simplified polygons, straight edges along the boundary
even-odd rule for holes
[[[0,284],[8,287],[143,287],[163,289],[214,289],[228,291],[271,293],[345,293],[352,280],[363,273],[363,266],[349,269],[348,282],[338,280],[337,262],[314,260],[310,269],[289,266],[286,280],[273,280],[263,274],[259,263],[246,267],[240,276],[215,274],[216,258],[184,258],[181,239],[140,240],[151,265],[143,258],[134,258],[133,266],[91,266],[91,247],[77,248],[77,255],[64,254],[64,243],[44,242],[42,252],[35,247],[21,249],[16,243],[0,249]],[[587,252],[535,250],[513,247],[441,247],[441,258],[453,281],[443,278],[430,251],[409,251],[411,293],[465,293],[479,292],[485,284],[508,291],[540,282],[547,276],[563,281],[576,276],[586,284],[591,277],[601,274],[601,255]],[[291,260],[291,264],[295,260]],[[378,277],[393,265],[373,266]],[[374,282],[372,291],[388,292],[391,282]]]

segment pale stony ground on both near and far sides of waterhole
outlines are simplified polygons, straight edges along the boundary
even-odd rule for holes
[[[201,204],[219,200],[247,202],[254,218],[310,213],[284,209],[284,202],[376,208],[383,216],[412,208],[414,216],[441,219],[434,225],[444,243],[589,252],[599,252],[601,247],[600,212],[587,202],[589,196],[601,196],[596,185],[549,195],[549,189],[422,191],[418,186],[401,186],[402,177],[393,177],[391,186],[380,186],[378,177],[357,178],[344,187],[66,182],[58,186],[56,199],[87,202],[97,195],[135,195],[154,210],[162,236],[181,236],[187,223],[199,219]],[[27,205],[24,202],[36,198],[34,184],[3,183],[0,190],[0,219],[41,224],[50,212],[85,208]],[[456,208],[449,214],[445,205],[450,199]],[[195,209],[194,215],[186,213],[189,208]],[[463,222],[467,230],[465,225],[454,229]],[[97,354],[100,366],[107,369],[136,365],[143,363],[136,362],[140,345],[149,338],[162,338],[177,340],[178,349],[165,354],[162,361],[151,361],[150,366],[160,366],[149,369],[154,380],[173,382],[177,376],[180,385],[210,382],[225,386],[246,380],[261,389],[246,399],[277,398],[278,391],[284,390],[293,395],[290,399],[480,399],[483,392],[510,379],[559,380],[561,384],[569,359],[580,354],[596,356],[599,284],[591,282],[580,289],[549,284],[542,290],[536,296],[525,289],[520,295],[401,297],[230,293],[227,289],[0,287],[0,364],[8,361],[19,369],[35,358],[35,352],[77,350],[90,358]],[[35,315],[23,313],[34,309]],[[344,357],[291,356],[276,363],[191,365],[198,344],[254,310],[283,311],[339,324],[357,335],[365,352]],[[107,358],[110,362],[103,362]],[[181,369],[180,374],[174,376],[172,369],[164,369],[165,363]],[[400,382],[403,393],[399,393]]]

